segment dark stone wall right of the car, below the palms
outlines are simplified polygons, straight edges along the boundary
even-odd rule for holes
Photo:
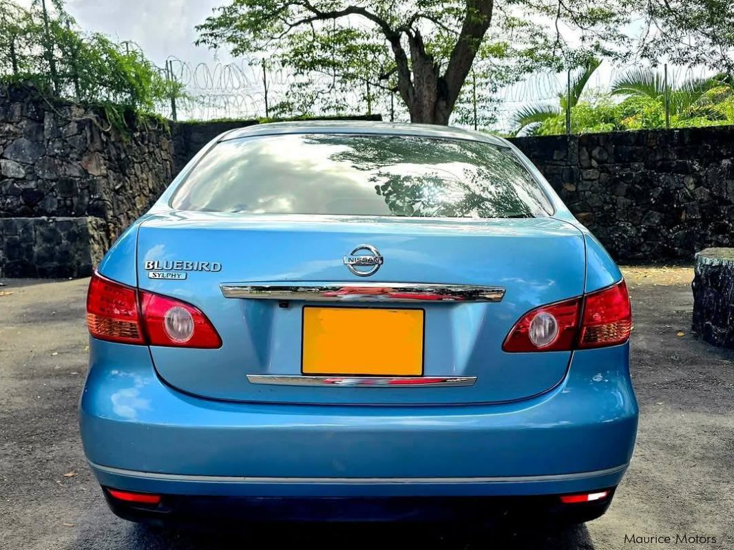
[[[618,260],[734,245],[734,127],[512,140]]]

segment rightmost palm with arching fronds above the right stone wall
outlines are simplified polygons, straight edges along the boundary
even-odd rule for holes
[[[611,85],[614,95],[648,98],[665,103],[667,95],[671,116],[680,118],[707,117],[717,120],[721,114],[715,105],[705,101],[711,90],[731,87],[730,77],[716,75],[708,78],[686,78],[666,90],[664,76],[652,69],[633,69]]]

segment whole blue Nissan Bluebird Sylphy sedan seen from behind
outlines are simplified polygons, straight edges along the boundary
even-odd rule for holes
[[[84,451],[134,521],[587,521],[633,452],[622,274],[483,133],[223,133],[87,323]]]

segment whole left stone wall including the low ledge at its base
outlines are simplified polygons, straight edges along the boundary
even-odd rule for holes
[[[174,173],[170,128],[0,87],[0,276],[84,276]],[[54,266],[57,266],[54,268]]]

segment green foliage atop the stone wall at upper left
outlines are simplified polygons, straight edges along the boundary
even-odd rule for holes
[[[100,104],[116,126],[182,95],[181,86],[167,81],[139,48],[81,32],[61,0],[46,7],[34,0],[27,10],[12,0],[0,4],[0,82]]]

